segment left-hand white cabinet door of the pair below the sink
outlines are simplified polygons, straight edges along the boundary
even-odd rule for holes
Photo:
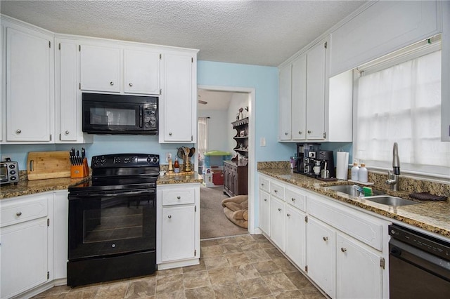
[[[335,298],[335,230],[312,217],[307,222],[308,276],[331,298]]]

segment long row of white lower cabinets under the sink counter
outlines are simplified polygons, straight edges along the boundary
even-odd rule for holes
[[[388,225],[259,174],[259,228],[330,298],[389,298]]]

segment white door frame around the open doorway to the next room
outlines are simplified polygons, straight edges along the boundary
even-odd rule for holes
[[[257,227],[255,224],[255,88],[238,87],[238,86],[211,86],[198,85],[197,89],[206,89],[207,91],[228,91],[231,93],[247,93],[248,94],[248,121],[249,121],[249,136],[248,144],[250,151],[248,152],[248,232],[250,234],[257,234]],[[198,129],[198,128],[197,128]]]

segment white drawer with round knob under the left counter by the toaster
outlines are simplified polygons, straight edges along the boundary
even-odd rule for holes
[[[0,227],[14,225],[48,215],[48,195],[33,195],[2,201]]]

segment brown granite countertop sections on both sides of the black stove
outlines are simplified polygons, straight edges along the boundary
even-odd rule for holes
[[[8,199],[11,197],[20,197],[22,195],[30,195],[41,192],[67,190],[68,187],[90,180],[90,176],[86,178],[51,178],[46,180],[27,180],[26,175],[20,176],[18,185],[2,185],[0,187],[0,199]],[[190,175],[165,175],[158,177],[157,185],[167,184],[185,184],[192,182],[203,182],[203,178],[198,173]]]

